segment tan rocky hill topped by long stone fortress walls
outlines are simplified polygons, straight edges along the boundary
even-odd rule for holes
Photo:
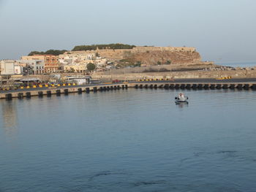
[[[97,50],[78,50],[67,51],[59,57],[65,55],[89,55],[96,54],[103,58],[113,61],[128,61],[134,63],[140,61],[142,64],[155,65],[157,63],[165,64],[167,61],[171,64],[184,64],[200,62],[200,54],[195,47],[133,47],[132,49],[97,49]]]

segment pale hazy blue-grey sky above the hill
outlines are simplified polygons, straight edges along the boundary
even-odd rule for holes
[[[0,59],[118,42],[256,61],[255,10],[255,0],[0,0]]]

